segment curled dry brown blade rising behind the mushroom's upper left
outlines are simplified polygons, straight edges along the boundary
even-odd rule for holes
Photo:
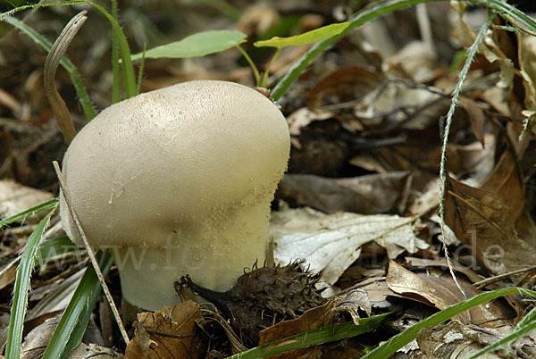
[[[67,51],[67,47],[71,44],[72,39],[76,36],[79,29],[84,22],[88,19],[85,15],[88,13],[86,10],[77,13],[65,28],[58,38],[56,38],[54,45],[50,49],[50,52],[46,56],[44,84],[45,93],[48,98],[48,102],[52,107],[54,117],[60,126],[63,133],[63,138],[67,144],[70,144],[72,138],[76,136],[76,129],[72,124],[71,113],[67,105],[60,96],[58,89],[55,86],[55,73],[58,70],[58,65],[63,58],[63,55]]]

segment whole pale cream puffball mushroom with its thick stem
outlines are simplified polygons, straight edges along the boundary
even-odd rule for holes
[[[63,177],[93,248],[111,248],[123,298],[180,302],[173,282],[230,289],[263,263],[289,129],[252,88],[197,80],[106,108],[73,139]],[[82,240],[61,196],[63,227]]]

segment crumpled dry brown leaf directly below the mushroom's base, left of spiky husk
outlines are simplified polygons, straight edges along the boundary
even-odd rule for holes
[[[136,338],[127,346],[125,358],[204,357],[205,343],[196,330],[199,319],[201,309],[191,300],[155,313],[138,313]]]

